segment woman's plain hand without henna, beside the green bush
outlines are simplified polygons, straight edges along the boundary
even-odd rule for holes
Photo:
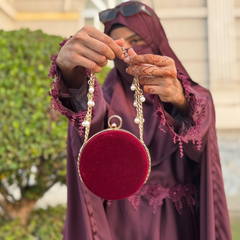
[[[113,40],[94,27],[85,26],[69,39],[57,57],[63,81],[70,88],[79,88],[85,79],[84,68],[97,73],[108,60],[124,59],[120,48],[123,39]]]

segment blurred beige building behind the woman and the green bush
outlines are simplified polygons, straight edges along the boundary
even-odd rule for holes
[[[84,25],[102,30],[98,12],[121,2],[126,1],[0,0],[0,29],[41,29],[63,37]],[[141,2],[158,14],[171,47],[192,79],[213,95],[228,206],[232,217],[240,215],[240,0]],[[52,197],[66,201],[56,197],[58,189],[51,191],[55,190],[42,202],[49,203]]]

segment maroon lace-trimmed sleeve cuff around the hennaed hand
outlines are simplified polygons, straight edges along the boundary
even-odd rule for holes
[[[175,127],[178,125],[177,122],[173,117],[164,111],[163,103],[160,101],[159,96],[151,95],[150,97],[154,102],[154,105],[156,107],[156,114],[160,120],[159,128],[162,131],[165,131],[164,129],[167,129],[171,134],[174,143],[178,142],[180,155],[182,157],[183,143],[191,142],[197,147],[198,151],[202,147],[203,128],[205,127],[203,126],[202,122],[205,118],[207,97],[203,93],[200,93],[194,89],[191,86],[191,82],[188,81],[188,79],[183,74],[178,73],[178,79],[182,83],[185,97],[187,98],[190,107],[189,117],[180,117],[179,127]]]

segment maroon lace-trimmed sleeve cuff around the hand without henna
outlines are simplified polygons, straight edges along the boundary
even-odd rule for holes
[[[64,40],[59,45],[62,47],[66,42],[67,40]],[[63,80],[61,79],[61,73],[56,64],[57,55],[52,55],[50,59],[52,61],[52,66],[50,68],[48,76],[53,79],[49,91],[49,95],[51,96],[50,105],[54,110],[66,116],[71,121],[72,125],[79,130],[79,134],[82,135],[83,134],[82,122],[86,116],[87,109],[81,109],[80,111],[77,110],[77,107],[75,106],[74,101],[71,97],[70,90],[65,86]],[[85,71],[87,76],[86,80],[88,80],[91,72],[88,69],[85,69]],[[95,103],[97,101],[99,87],[100,87],[99,83],[95,81],[94,91]],[[94,113],[95,109],[93,108],[93,116]]]

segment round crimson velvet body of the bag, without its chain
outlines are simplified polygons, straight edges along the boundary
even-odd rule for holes
[[[124,199],[139,190],[150,173],[150,155],[144,143],[128,131],[106,129],[82,146],[79,175],[95,195]]]

